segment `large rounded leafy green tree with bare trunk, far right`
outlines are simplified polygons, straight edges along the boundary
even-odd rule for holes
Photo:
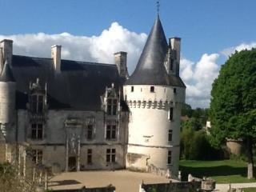
[[[211,142],[220,146],[226,138],[246,143],[248,172],[253,178],[253,146],[256,139],[256,50],[233,54],[222,66],[211,91]]]

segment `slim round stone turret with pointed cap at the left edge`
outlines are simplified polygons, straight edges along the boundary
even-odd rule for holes
[[[15,91],[16,82],[6,61],[0,75],[0,130],[6,142],[14,142],[15,139]]]

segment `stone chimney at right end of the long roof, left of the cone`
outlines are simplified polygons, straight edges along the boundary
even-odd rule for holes
[[[114,54],[114,63],[118,66],[118,73],[123,78],[128,77],[126,62],[127,62],[126,52],[120,51]]]

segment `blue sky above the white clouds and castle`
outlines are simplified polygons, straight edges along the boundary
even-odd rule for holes
[[[190,65],[194,75],[204,54],[218,54],[212,55],[210,61],[219,67],[226,60],[223,50],[231,53],[235,47],[243,44],[250,47],[256,42],[255,0],[161,0],[160,3],[166,38],[182,38],[182,57],[186,59],[183,62]],[[148,34],[156,16],[155,0],[0,0],[0,8],[2,38],[63,32],[78,37],[99,37],[103,30],[110,30],[114,22],[130,32]],[[143,36],[142,39],[145,42]],[[135,58],[131,60],[134,62]],[[201,74],[205,72],[206,69]],[[212,78],[214,75],[216,73]],[[197,81],[187,78],[185,82],[194,86]],[[188,89],[190,92],[190,87]],[[207,91],[209,94],[209,89]],[[198,106],[207,107],[209,96],[207,99],[208,102]]]

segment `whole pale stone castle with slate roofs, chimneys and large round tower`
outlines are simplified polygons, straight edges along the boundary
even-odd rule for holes
[[[131,169],[178,174],[180,38],[166,42],[159,17],[134,73],[115,64],[13,54],[0,44],[0,161],[69,170]],[[23,173],[25,174],[25,173]]]

